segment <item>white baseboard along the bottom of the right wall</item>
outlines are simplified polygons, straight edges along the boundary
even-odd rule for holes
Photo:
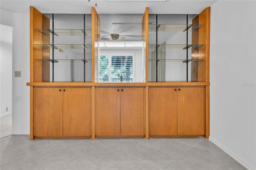
[[[236,160],[237,162],[239,162],[242,166],[244,166],[246,169],[248,170],[255,170],[256,167],[254,167],[253,165],[249,164],[246,160],[244,160],[243,158],[241,158],[240,156],[238,156],[237,154],[235,154],[234,152],[232,152],[232,150],[228,149],[227,147],[225,147],[224,145],[222,145],[221,143],[219,143],[217,140],[215,140],[212,137],[209,137],[209,140],[214,143],[215,145],[217,145],[220,149],[224,150],[224,152],[226,152],[229,156],[231,156],[232,158],[234,158],[234,160]]]

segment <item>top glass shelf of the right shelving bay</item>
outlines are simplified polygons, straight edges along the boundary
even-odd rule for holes
[[[192,31],[202,24],[149,24],[148,31]]]

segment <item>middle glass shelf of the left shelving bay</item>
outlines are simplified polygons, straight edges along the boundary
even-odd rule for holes
[[[38,45],[40,47],[44,47],[44,48],[54,48],[54,49],[91,49],[92,45],[90,44],[35,44]]]

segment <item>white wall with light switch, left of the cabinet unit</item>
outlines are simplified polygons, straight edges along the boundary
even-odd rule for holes
[[[13,27],[12,49],[12,134],[30,133],[30,22],[26,14],[1,9],[1,24]],[[14,77],[14,70],[21,77]]]

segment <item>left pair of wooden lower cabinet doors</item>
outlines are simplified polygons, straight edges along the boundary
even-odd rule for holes
[[[36,137],[90,137],[90,88],[34,88]]]

